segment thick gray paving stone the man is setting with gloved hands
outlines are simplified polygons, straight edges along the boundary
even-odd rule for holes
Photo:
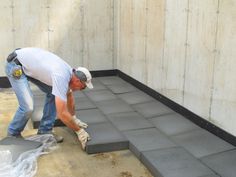
[[[92,138],[87,143],[88,154],[128,149],[128,140],[110,122],[92,124],[87,131]]]

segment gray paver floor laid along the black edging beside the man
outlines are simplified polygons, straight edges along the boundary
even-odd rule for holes
[[[235,176],[231,144],[119,77],[94,78],[93,84],[93,90],[75,92],[76,115],[89,124],[92,137],[88,153],[129,148],[154,176]],[[41,119],[42,100],[35,99],[33,121]]]

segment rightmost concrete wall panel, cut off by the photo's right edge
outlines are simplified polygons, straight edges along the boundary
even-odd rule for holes
[[[220,1],[211,121],[236,136],[236,2]]]

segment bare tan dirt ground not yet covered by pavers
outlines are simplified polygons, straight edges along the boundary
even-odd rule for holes
[[[3,138],[18,103],[11,89],[0,89],[0,100],[0,138]],[[55,132],[64,137],[64,142],[50,154],[39,157],[36,177],[152,177],[129,150],[88,155],[81,150],[71,130],[57,127]],[[29,121],[23,136],[35,133]]]

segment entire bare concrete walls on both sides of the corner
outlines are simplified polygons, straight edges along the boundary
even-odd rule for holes
[[[118,68],[236,135],[234,0],[0,0],[0,76],[14,48]]]

